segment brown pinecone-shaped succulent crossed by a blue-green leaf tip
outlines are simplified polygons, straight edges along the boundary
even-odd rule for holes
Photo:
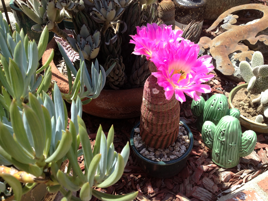
[[[107,71],[110,66],[116,63],[112,71],[109,73],[109,75],[107,75],[106,79],[106,82],[108,82],[110,87],[114,89],[119,89],[119,87],[122,87],[126,79],[124,73],[125,65],[123,64],[122,60],[122,56],[114,59],[113,56],[110,55],[107,57],[106,63],[104,65],[104,69]]]

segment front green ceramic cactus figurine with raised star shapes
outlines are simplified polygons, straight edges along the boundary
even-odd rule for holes
[[[224,116],[215,126],[206,121],[202,128],[202,140],[212,150],[212,161],[223,167],[233,168],[239,158],[249,155],[255,148],[257,135],[248,130],[242,134],[239,120],[233,116]]]

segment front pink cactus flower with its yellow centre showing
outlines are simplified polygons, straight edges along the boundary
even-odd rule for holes
[[[159,86],[164,87],[166,99],[170,100],[175,92],[181,103],[185,101],[184,93],[198,101],[202,93],[211,92],[209,85],[201,83],[214,77],[207,75],[214,69],[210,63],[212,57],[204,55],[197,58],[198,52],[197,44],[182,40],[160,45],[158,51],[152,53],[150,60],[158,70],[152,74],[157,77]]]

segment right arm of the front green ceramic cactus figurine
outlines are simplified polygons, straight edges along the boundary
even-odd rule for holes
[[[254,131],[248,130],[242,134],[242,142],[239,148],[239,157],[249,155],[255,148],[257,135]]]

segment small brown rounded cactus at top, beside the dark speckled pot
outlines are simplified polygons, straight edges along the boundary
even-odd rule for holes
[[[159,3],[158,17],[166,25],[172,25],[172,29],[175,29],[175,5],[171,0],[163,0]]]

